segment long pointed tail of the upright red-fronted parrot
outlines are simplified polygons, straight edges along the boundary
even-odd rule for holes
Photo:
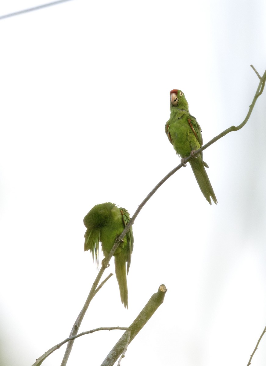
[[[210,205],[211,205],[210,197],[216,204],[217,198],[215,197],[213,187],[211,187],[211,183],[209,177],[207,176],[202,160],[200,160],[199,157],[197,159],[193,159],[190,161],[190,165],[204,197],[207,199]]]

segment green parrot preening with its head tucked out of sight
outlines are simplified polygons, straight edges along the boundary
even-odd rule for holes
[[[85,232],[84,250],[90,250],[92,256],[96,257],[96,264],[99,267],[98,253],[99,242],[102,243],[102,251],[107,257],[110,253],[117,236],[124,230],[130,216],[124,208],[118,208],[114,203],[105,202],[95,205],[84,217]],[[131,253],[133,250],[132,227],[125,235],[123,242],[117,247],[115,257],[116,278],[119,285],[122,304],[128,308],[127,274],[130,267]],[[127,270],[125,264],[127,262]]]

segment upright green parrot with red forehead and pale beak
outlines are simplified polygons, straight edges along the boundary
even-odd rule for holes
[[[188,103],[183,91],[173,89],[170,91],[170,119],[166,122],[165,133],[173,145],[176,153],[182,158],[192,154],[194,159],[190,160],[192,171],[196,177],[199,188],[211,205],[211,199],[217,203],[213,187],[207,176],[204,167],[209,168],[202,160],[202,152],[196,157],[193,150],[198,150],[202,145],[201,127],[195,117],[191,116],[188,110]]]

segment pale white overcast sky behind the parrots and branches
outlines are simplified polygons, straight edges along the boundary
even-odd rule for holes
[[[2,1],[0,15],[39,4]],[[85,214],[111,201],[132,215],[180,163],[164,133],[169,91],[185,93],[204,142],[243,121],[250,64],[266,68],[265,19],[263,0],[73,0],[0,20],[3,365],[31,365],[69,335],[97,275]],[[130,325],[164,283],[121,365],[247,365],[266,325],[265,116],[266,90],[246,126],[203,153],[217,206],[187,166],[135,220],[128,310],[113,276],[80,327]],[[68,366],[100,365],[122,333],[79,338]],[[265,362],[266,336],[252,365]]]

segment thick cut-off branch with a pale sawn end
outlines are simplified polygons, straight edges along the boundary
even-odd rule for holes
[[[161,285],[158,291],[151,296],[150,300],[136,317],[134,322],[128,327],[128,329],[130,330],[129,343],[135,338],[135,336],[147,323],[150,317],[155,313],[158,307],[164,302],[164,296],[166,291],[167,288],[165,287],[165,285]],[[127,344],[127,337],[128,332],[125,332],[123,336],[119,339],[119,341],[117,341],[113,349],[106,356],[101,366],[112,366],[115,364],[115,362],[125,349],[125,345]]]

